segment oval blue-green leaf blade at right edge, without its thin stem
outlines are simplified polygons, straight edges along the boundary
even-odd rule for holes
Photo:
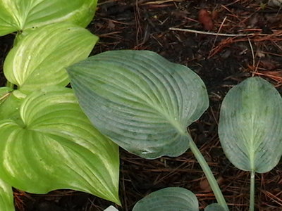
[[[219,138],[227,158],[240,170],[272,170],[282,151],[282,98],[259,77],[245,79],[223,100]]]

